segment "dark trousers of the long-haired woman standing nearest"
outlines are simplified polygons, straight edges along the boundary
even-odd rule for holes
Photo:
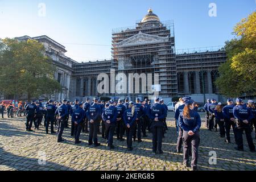
[[[199,132],[196,131],[194,135],[188,135],[188,131],[183,131],[183,163],[188,164],[189,151],[192,150],[191,167],[197,166],[198,148],[200,143]]]

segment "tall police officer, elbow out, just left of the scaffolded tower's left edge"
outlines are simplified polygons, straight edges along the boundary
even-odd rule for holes
[[[101,107],[98,104],[98,98],[94,98],[94,104],[91,105],[87,111],[87,118],[89,121],[89,142],[88,145],[91,146],[94,143],[94,147],[100,146],[101,144],[98,143],[97,133],[98,133],[98,126],[100,125],[101,121]]]

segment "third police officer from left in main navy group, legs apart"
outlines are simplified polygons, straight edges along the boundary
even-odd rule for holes
[[[53,130],[56,107],[55,105],[53,105],[52,100],[49,100],[48,103],[49,104],[46,105],[46,134],[48,134],[48,127],[50,123],[51,123],[51,134],[54,134],[56,133]]]

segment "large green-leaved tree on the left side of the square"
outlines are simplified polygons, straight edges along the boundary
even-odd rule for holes
[[[60,92],[61,85],[53,79],[56,68],[45,52],[36,40],[0,40],[0,92],[28,100]]]

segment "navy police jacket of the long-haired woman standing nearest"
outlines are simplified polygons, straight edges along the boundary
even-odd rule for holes
[[[198,131],[201,127],[200,115],[195,110],[190,110],[190,119],[183,117],[183,112],[179,115],[179,126],[184,131]]]

